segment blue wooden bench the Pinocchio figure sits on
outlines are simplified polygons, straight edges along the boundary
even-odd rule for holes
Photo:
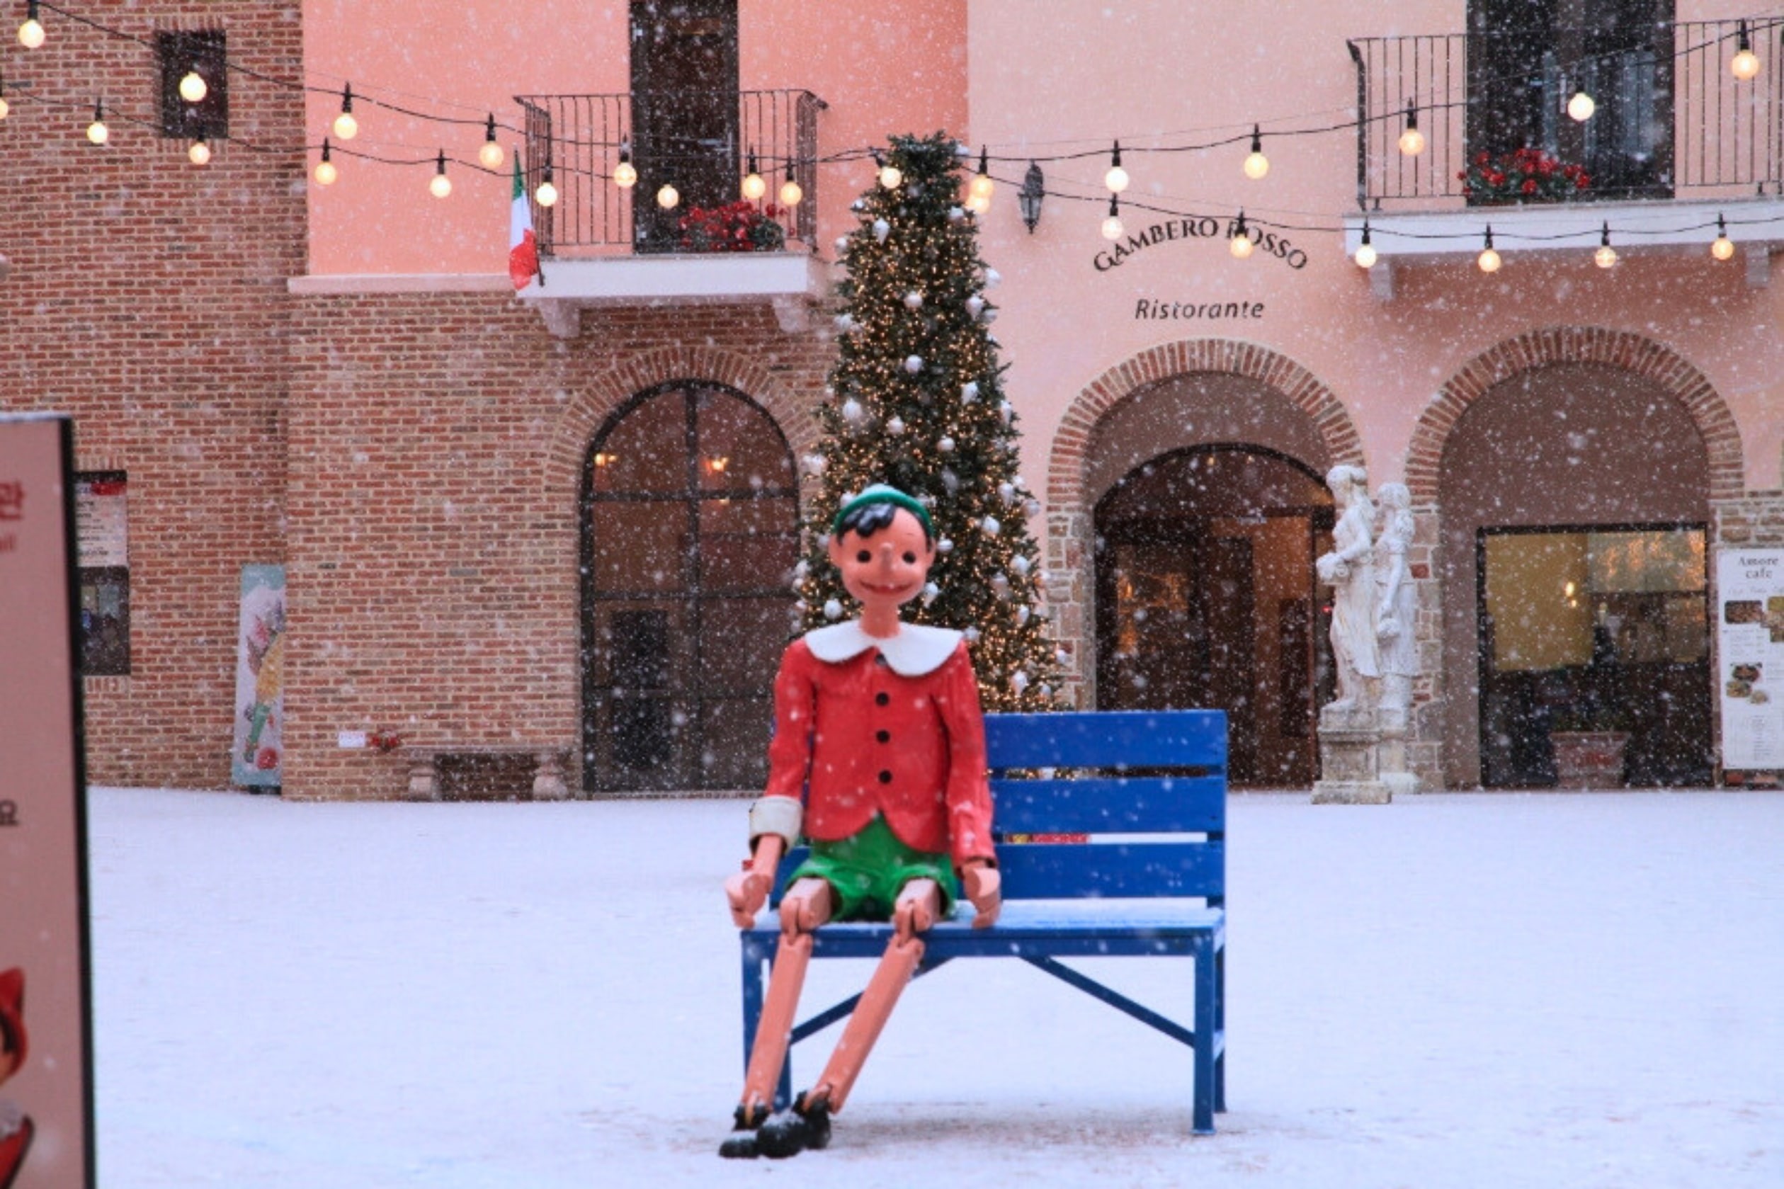
[[[972,929],[972,906],[958,904],[924,934],[917,973],[956,957],[1019,957],[1152,1025],[1193,1050],[1192,1123],[1195,1134],[1213,1134],[1215,1112],[1226,1111],[1226,715],[987,715],[985,742],[1003,914],[990,929]],[[1054,768],[1067,772],[1054,775]],[[803,854],[796,849],[781,863],[776,900]],[[764,913],[740,938],[747,1064],[780,918]],[[883,923],[830,923],[817,931],[812,957],[878,959],[890,938],[892,927]],[[1111,955],[1192,959],[1192,1025],[1060,961]],[[792,1045],[846,1018],[858,1000],[855,995],[797,1023]],[[774,1105],[790,1100],[789,1052]]]

